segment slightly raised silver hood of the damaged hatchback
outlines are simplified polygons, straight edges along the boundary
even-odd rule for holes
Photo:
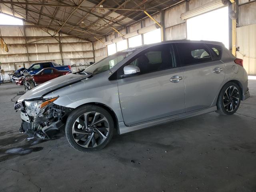
[[[22,95],[18,102],[24,100],[24,99],[34,99],[38,97],[42,97],[54,90],[57,90],[59,88],[62,88],[64,86],[76,83],[80,80],[86,79],[90,77],[91,75],[81,75],[81,74],[68,74],[64,76],[60,76],[58,78],[52,79],[50,81],[47,81],[43,84],[40,84],[39,86],[36,86],[32,90],[26,92],[24,95]]]

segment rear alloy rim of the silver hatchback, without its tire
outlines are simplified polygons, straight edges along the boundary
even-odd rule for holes
[[[226,89],[223,96],[223,106],[226,111],[234,111],[239,104],[239,91],[235,86],[230,86]]]

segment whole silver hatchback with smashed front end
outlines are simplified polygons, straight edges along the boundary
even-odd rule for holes
[[[124,134],[216,111],[250,96],[243,61],[220,42],[176,40],[117,52],[18,99],[20,132],[42,139],[65,127],[72,147],[104,148]]]

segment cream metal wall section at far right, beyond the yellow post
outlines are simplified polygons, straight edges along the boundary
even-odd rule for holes
[[[248,0],[239,2],[244,4]],[[238,20],[236,45],[240,50],[236,56],[244,60],[244,68],[249,75],[256,75],[256,2],[241,5]]]

